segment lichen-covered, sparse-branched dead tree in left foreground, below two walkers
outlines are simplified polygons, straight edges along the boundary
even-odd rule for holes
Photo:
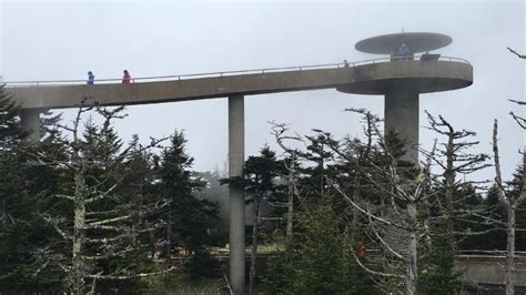
[[[129,199],[120,193],[130,172],[127,165],[132,153],[158,146],[164,140],[152,140],[150,144],[139,150],[135,146],[134,151],[131,148],[120,149],[119,141],[111,142],[110,138],[111,123],[114,119],[123,118],[120,113],[122,109],[122,106],[113,110],[80,108],[72,126],[59,125],[70,133],[71,140],[65,136],[59,139],[68,149],[67,156],[57,159],[53,155],[40,153],[37,154],[38,160],[32,163],[60,169],[73,180],[72,187],[54,195],[72,203],[73,220],[50,214],[41,215],[55,228],[64,242],[71,245],[71,253],[61,258],[57,258],[57,255],[40,257],[42,265],[54,264],[64,272],[65,284],[74,294],[84,294],[90,289],[94,293],[98,281],[132,279],[160,273],[139,271],[133,261],[113,269],[98,267],[98,262],[125,258],[138,251],[140,245],[136,244],[135,237],[151,228],[138,227],[136,216],[151,214],[166,206],[164,202],[155,202],[139,208],[140,204],[133,204],[133,197]],[[83,115],[92,110],[102,116],[103,123],[101,126],[88,123],[83,128]],[[104,148],[113,149],[114,154],[103,150]],[[108,154],[104,154],[107,152]],[[112,204],[111,208],[108,207],[109,204]],[[170,267],[162,272],[171,272],[174,268]],[[91,287],[88,289],[89,281],[91,281]]]

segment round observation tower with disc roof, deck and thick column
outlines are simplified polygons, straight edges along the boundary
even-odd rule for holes
[[[336,87],[345,93],[384,95],[384,132],[398,134],[407,151],[404,160],[413,163],[418,162],[419,94],[461,89],[473,83],[473,67],[467,61],[429,53],[451,43],[451,37],[429,32],[364,39],[355,44],[356,50],[386,57],[352,67],[355,81]],[[408,52],[401,53],[404,44]]]

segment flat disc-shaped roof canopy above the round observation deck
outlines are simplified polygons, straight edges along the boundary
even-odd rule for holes
[[[408,32],[376,35],[357,42],[357,51],[373,54],[395,54],[402,44],[406,44],[411,53],[426,52],[447,47],[452,38],[442,33]]]

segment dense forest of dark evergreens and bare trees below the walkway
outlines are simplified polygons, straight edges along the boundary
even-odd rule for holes
[[[522,162],[502,176],[497,121],[484,154],[474,132],[427,113],[437,140],[419,164],[403,160],[404,142],[366,110],[346,110],[363,124],[357,138],[272,123],[277,150],[262,146],[244,176],[229,179],[194,171],[181,131],[123,142],[114,130],[123,108],[83,106],[71,124],[47,114],[38,144],[19,111],[0,88],[2,293],[169,292],[181,275],[229,292],[216,256],[236,186],[250,211],[251,294],[457,294],[454,257],[466,251],[506,253],[513,294],[514,257],[526,251],[525,172]],[[512,115],[523,134],[525,119]],[[495,176],[472,175],[483,169]]]

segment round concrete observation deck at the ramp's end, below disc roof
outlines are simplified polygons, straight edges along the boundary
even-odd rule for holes
[[[386,94],[399,88],[429,93],[466,88],[473,84],[473,67],[464,60],[390,61],[390,58],[351,68],[352,81],[336,89],[354,94]]]

